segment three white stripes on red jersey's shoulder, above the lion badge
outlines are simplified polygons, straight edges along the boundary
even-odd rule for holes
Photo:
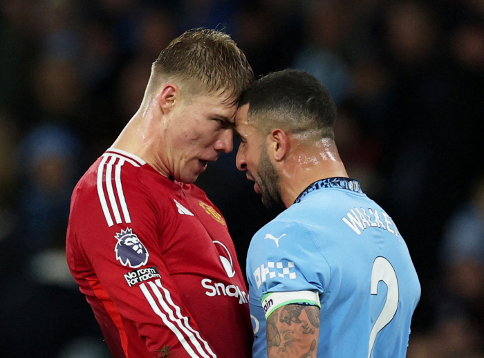
[[[130,162],[131,164],[135,165],[136,167],[140,167],[140,164],[130,160],[129,158],[124,158],[119,156],[118,154],[109,154],[104,153],[103,158],[97,168],[97,195],[99,196],[99,200],[101,202],[102,212],[104,213],[104,217],[106,218],[106,222],[109,227],[114,225],[114,220],[116,224],[120,224],[123,222],[121,217],[124,216],[124,222],[129,224],[131,223],[131,216],[129,215],[129,210],[127,207],[126,199],[124,198],[124,191],[122,189],[122,182],[121,182],[121,169],[125,162]],[[115,162],[118,161],[118,164]],[[115,166],[115,167],[114,167]],[[114,167],[114,173],[113,173]],[[115,189],[113,187],[113,178],[115,183]],[[106,193],[109,198],[109,204],[106,200],[106,196],[104,195],[104,183],[106,187]],[[116,201],[118,198],[121,206],[121,211]],[[111,211],[114,215],[111,216]]]

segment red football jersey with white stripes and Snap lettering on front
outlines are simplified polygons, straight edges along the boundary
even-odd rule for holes
[[[109,149],[75,187],[66,254],[113,357],[251,357],[234,245],[195,185]]]

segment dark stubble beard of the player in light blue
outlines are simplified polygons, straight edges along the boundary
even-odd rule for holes
[[[281,189],[279,188],[279,174],[265,150],[261,151],[259,157],[259,168],[257,168],[259,180],[257,185],[261,189],[261,199],[265,207],[282,206],[284,203],[281,198]]]

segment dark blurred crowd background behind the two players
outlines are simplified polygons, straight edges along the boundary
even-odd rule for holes
[[[160,50],[198,27],[232,35],[257,77],[300,68],[329,88],[348,173],[393,217],[420,276],[408,357],[484,357],[483,0],[1,0],[0,10],[2,357],[109,357],[65,263],[71,191],[138,109]],[[245,268],[252,234],[280,210],[263,208],[235,153],[197,184]]]

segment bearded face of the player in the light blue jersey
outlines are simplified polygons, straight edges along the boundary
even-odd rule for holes
[[[261,194],[263,205],[283,205],[279,189],[279,174],[270,161],[263,135],[248,121],[249,105],[242,106],[236,114],[236,132],[241,140],[237,151],[237,168],[246,171],[247,178],[254,180],[254,190]]]

